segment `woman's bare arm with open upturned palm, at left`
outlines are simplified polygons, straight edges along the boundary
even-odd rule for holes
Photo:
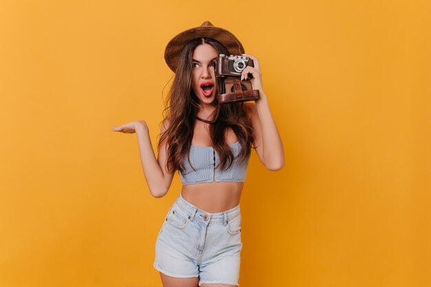
[[[162,125],[162,131],[166,129],[166,125]],[[127,123],[121,127],[112,127],[113,131],[123,131],[128,134],[136,132],[138,136],[138,146],[140,153],[140,162],[144,171],[145,180],[147,181],[149,192],[155,198],[161,198],[166,195],[171,187],[174,173],[167,170],[167,155],[166,143],[162,142],[158,152],[158,159],[154,154],[151,139],[149,138],[149,130],[145,121]]]

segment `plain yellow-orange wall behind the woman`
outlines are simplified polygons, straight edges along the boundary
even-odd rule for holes
[[[0,286],[161,286],[165,45],[209,20],[260,59],[286,166],[253,154],[240,285],[431,286],[430,1],[0,1]]]

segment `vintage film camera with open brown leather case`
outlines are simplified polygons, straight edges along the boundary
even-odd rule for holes
[[[246,102],[259,99],[259,91],[253,90],[249,80],[241,81],[241,72],[253,65],[248,56],[235,56],[220,54],[218,56],[215,76],[217,77],[220,94],[218,103]],[[249,78],[252,78],[251,74]]]

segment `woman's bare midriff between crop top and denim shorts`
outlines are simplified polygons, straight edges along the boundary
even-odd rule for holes
[[[243,182],[185,184],[181,196],[202,211],[218,213],[240,204]]]

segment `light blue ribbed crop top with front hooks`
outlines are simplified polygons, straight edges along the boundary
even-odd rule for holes
[[[247,169],[249,167],[249,158],[244,162],[238,162],[238,155],[241,151],[239,142],[235,142],[229,147],[233,151],[234,160],[231,167],[227,170],[221,170],[217,167],[220,164],[220,157],[213,147],[198,147],[191,145],[190,161],[194,167],[191,167],[189,159],[185,159],[185,171],[180,175],[182,184],[197,184],[203,182],[244,182]],[[214,167],[217,167],[216,169]]]

